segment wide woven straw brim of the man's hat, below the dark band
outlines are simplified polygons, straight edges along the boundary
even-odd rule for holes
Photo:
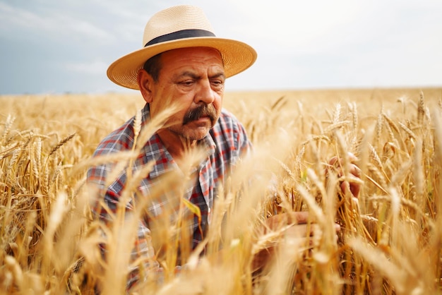
[[[172,40],[138,49],[114,61],[107,68],[107,77],[117,85],[138,90],[138,71],[143,68],[145,61],[152,56],[172,49],[186,47],[212,47],[222,56],[226,78],[249,68],[256,61],[256,51],[248,44],[237,40],[218,37],[193,37]]]

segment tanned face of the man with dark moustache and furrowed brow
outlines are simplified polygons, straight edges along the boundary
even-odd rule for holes
[[[201,140],[220,116],[225,73],[220,52],[208,47],[174,49],[161,55],[160,76],[153,83],[150,112],[155,116],[178,102],[167,130]]]

